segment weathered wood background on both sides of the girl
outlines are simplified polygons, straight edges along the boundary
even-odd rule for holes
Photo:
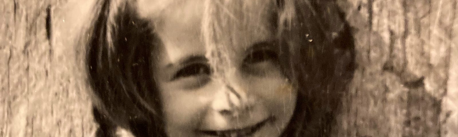
[[[95,2],[0,1],[0,137],[94,135],[76,36]],[[458,137],[457,0],[337,3],[358,67],[334,135]]]

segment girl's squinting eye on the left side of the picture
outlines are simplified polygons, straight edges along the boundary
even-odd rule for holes
[[[193,63],[178,70],[173,79],[182,79],[189,77],[201,77],[210,75],[210,66],[203,63]]]

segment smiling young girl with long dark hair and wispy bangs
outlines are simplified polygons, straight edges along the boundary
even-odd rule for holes
[[[98,136],[328,136],[353,37],[331,0],[99,0]]]

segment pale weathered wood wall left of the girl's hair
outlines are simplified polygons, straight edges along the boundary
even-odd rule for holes
[[[75,21],[81,10],[72,9],[85,7],[66,0],[0,1],[0,137],[93,135],[77,58],[82,51],[71,40],[82,23]]]

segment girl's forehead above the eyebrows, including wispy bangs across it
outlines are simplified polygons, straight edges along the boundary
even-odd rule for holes
[[[137,7],[153,22],[171,62],[209,49],[240,55],[273,36],[266,0],[139,0]]]

